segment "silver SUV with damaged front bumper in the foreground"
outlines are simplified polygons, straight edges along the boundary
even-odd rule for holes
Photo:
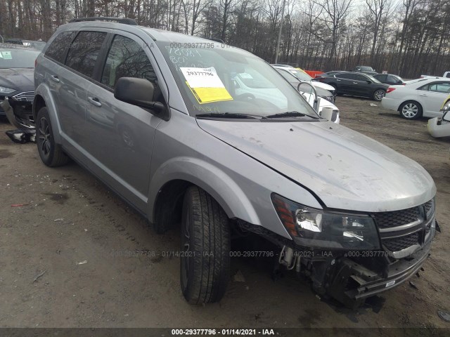
[[[39,156],[75,159],[158,233],[181,223],[189,303],[224,295],[236,233],[351,307],[418,272],[438,227],[415,161],[320,118],[251,53],[101,19],[59,27],[37,58]]]

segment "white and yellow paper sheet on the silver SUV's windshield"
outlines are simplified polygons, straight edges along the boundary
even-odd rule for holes
[[[181,67],[186,78],[186,85],[200,104],[233,100],[226,90],[214,67]]]

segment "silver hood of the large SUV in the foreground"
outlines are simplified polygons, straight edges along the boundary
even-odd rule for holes
[[[329,121],[198,119],[198,125],[307,187],[328,208],[394,211],[423,204],[436,194],[431,176],[416,161]]]

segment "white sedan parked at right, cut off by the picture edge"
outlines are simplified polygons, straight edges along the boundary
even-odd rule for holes
[[[381,105],[400,112],[405,119],[442,117],[440,108],[449,93],[450,79],[423,79],[406,86],[390,86]]]

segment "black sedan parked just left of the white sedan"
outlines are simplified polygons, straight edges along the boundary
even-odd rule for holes
[[[338,95],[354,95],[380,101],[385,97],[388,84],[383,84],[370,74],[362,72],[340,72],[320,77],[319,81],[336,88]]]

